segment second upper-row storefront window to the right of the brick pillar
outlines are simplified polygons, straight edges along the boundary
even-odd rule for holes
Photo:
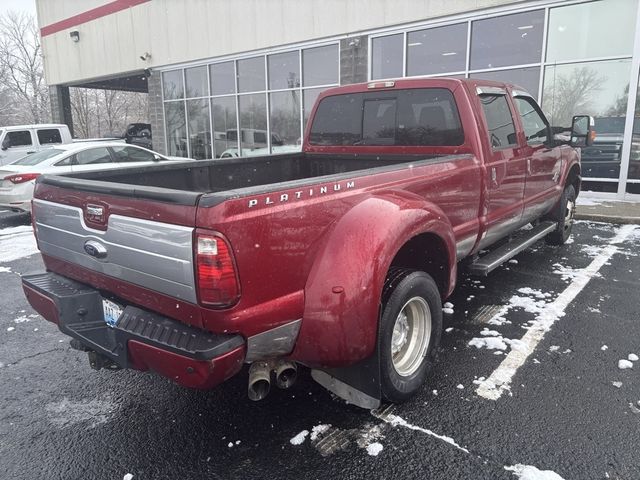
[[[463,71],[466,61],[466,23],[407,34],[408,76]]]

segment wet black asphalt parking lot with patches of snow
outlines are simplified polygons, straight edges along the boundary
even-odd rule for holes
[[[254,403],[244,375],[200,392],[90,370],[22,294],[28,230],[0,213],[2,478],[640,478],[640,226],[578,222],[461,276],[428,384],[376,411],[304,372]]]

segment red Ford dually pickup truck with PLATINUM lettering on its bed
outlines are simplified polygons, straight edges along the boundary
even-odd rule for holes
[[[41,176],[47,271],[24,291],[96,369],[210,388],[250,364],[257,400],[303,365],[356,405],[403,401],[460,265],[568,238],[591,124],[561,139],[524,90],[482,80],[329,89],[302,152]]]

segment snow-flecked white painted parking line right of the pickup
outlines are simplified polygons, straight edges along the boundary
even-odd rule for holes
[[[553,324],[564,315],[564,311],[576,296],[587,286],[589,281],[598,273],[602,266],[618,251],[616,244],[624,242],[635,230],[635,225],[624,225],[618,229],[616,236],[609,245],[602,249],[593,261],[583,270],[576,271],[576,275],[569,286],[545,309],[540,312],[527,333],[522,337],[517,349],[513,349],[504,358],[493,373],[476,389],[476,393],[489,400],[497,400],[511,388],[511,380],[525,361],[533,353],[540,340],[544,338]]]

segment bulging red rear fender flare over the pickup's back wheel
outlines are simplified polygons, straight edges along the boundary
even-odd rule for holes
[[[453,284],[455,238],[436,205],[392,192],[369,197],[345,213],[316,253],[292,358],[309,366],[338,367],[370,356],[391,262],[407,241],[423,233],[444,241]]]

